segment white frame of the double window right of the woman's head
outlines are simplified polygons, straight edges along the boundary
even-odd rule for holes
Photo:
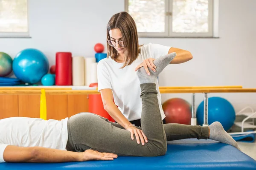
[[[125,0],[125,11],[128,11],[129,0]],[[165,0],[165,32],[157,33],[157,32],[138,32],[139,37],[177,37],[177,38],[187,38],[187,37],[213,37],[214,34],[214,2],[213,0],[209,0],[209,13],[208,13],[208,26],[209,31],[207,33],[175,33],[172,31],[172,6],[173,0]],[[171,14],[171,15],[170,15]]]

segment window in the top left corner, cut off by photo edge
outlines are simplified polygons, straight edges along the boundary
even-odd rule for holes
[[[27,0],[0,0],[0,37],[28,35]]]

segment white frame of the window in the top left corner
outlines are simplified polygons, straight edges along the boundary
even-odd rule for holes
[[[0,38],[29,37],[29,0],[26,0],[27,31],[26,32],[3,32],[0,31]]]

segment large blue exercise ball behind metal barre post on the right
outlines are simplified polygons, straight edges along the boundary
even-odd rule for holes
[[[199,125],[204,123],[204,101],[200,103],[197,109],[197,121]],[[221,97],[208,98],[208,124],[218,121],[224,130],[229,130],[236,119],[236,112],[229,101]]]

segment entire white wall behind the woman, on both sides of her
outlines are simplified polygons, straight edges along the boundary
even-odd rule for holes
[[[71,3],[72,2],[72,3]],[[256,0],[220,0],[219,39],[140,38],[140,43],[160,43],[189,50],[193,59],[170,65],[160,75],[160,86],[243,85],[255,88]],[[110,17],[124,10],[124,0],[29,0],[32,38],[0,38],[0,51],[15,57],[24,48],[38,48],[55,62],[57,51],[93,57],[93,46],[105,44]],[[105,51],[106,52],[106,51]],[[191,94],[162,94],[163,102]],[[209,94],[230,100],[236,110],[256,108],[256,94]],[[196,104],[203,94],[196,94]]]

